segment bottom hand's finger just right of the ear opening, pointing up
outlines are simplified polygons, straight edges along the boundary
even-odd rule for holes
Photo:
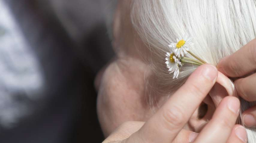
[[[225,97],[213,118],[199,133],[195,143],[226,143],[239,114],[240,101],[236,97]]]

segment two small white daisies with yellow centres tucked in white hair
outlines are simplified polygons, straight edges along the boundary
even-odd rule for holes
[[[189,58],[187,60],[184,60],[184,55],[186,55],[189,52],[189,47],[193,45],[192,39],[189,37],[184,37],[183,39],[176,39],[177,43],[171,43],[169,45],[170,52],[166,52],[166,66],[169,69],[169,73],[173,74],[173,79],[178,78],[180,73],[180,67],[184,63],[188,63]],[[190,62],[191,63],[191,62]],[[196,62],[197,63],[197,62]]]

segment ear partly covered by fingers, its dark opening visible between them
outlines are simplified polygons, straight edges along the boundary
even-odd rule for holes
[[[201,106],[189,119],[189,128],[195,132],[200,132],[218,107],[221,100],[226,96],[236,96],[234,83],[221,72],[218,73],[216,84],[213,86]]]

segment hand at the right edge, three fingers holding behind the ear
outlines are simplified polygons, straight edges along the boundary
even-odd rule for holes
[[[246,101],[256,101],[256,39],[223,58],[217,67],[228,77],[238,78],[235,86],[240,97]],[[256,106],[244,111],[242,119],[246,126],[256,127]]]

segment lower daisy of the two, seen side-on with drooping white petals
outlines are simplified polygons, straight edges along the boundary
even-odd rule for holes
[[[166,52],[166,67],[169,69],[168,71],[170,71],[169,74],[173,73],[173,79],[174,78],[178,78],[179,73],[180,73],[180,68],[179,66],[182,66],[180,60],[176,57],[176,54],[174,54],[174,52]]]

